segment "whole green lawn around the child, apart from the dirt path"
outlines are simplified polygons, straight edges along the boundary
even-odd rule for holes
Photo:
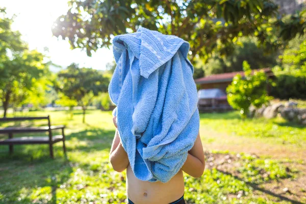
[[[12,156],[8,154],[8,146],[0,146],[0,203],[126,202],[125,173],[113,171],[108,160],[115,133],[111,112],[88,111],[86,124],[82,124],[79,111],[74,112],[72,120],[60,111],[30,112],[28,115],[48,114],[52,124],[67,126],[67,158],[63,155],[62,143],[55,145],[55,160],[49,159],[47,145],[15,146]],[[237,112],[201,114],[201,126],[243,137],[273,138],[277,142],[286,140],[296,145],[301,145],[298,140],[305,142],[304,127],[278,120],[242,121],[237,116]],[[41,122],[35,124],[43,125]],[[12,123],[2,124],[7,125]],[[290,133],[298,136],[289,137]],[[188,203],[306,202],[306,197],[265,189],[267,184],[276,185],[298,178],[299,170],[288,168],[291,161],[226,149],[207,151],[206,159],[206,170],[200,178],[185,174]]]

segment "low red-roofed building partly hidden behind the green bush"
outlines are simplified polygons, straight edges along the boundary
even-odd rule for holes
[[[269,78],[274,76],[271,68],[254,69],[252,71],[260,71],[260,70],[264,70],[264,72],[267,74]],[[199,86],[199,89],[218,88],[223,91],[226,91],[226,87],[232,83],[233,78],[238,73],[242,75],[242,77],[244,76],[244,71],[236,71],[236,72],[230,72],[230,73],[213,74],[208,77],[196,79],[194,81]]]

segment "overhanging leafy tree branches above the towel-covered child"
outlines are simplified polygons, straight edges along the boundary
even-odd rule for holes
[[[58,17],[52,31],[91,56],[92,51],[109,47],[112,36],[136,32],[142,26],[188,41],[194,61],[214,53],[230,54],[242,36],[254,36],[272,49],[304,33],[303,15],[289,21],[276,16],[277,5],[270,0],[70,0],[67,14]]]

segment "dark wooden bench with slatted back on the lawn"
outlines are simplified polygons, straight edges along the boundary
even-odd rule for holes
[[[9,145],[10,154],[13,153],[13,145],[16,144],[48,144],[50,157],[54,158],[53,144],[63,141],[63,150],[66,154],[65,146],[65,125],[51,125],[50,117],[14,117],[14,118],[0,118],[0,122],[8,121],[23,121],[23,120],[48,120],[48,126],[31,126],[31,127],[4,127],[0,128],[0,134],[8,134],[8,139],[0,139],[0,145]],[[62,130],[62,135],[52,135],[52,130]],[[37,133],[37,132],[48,132],[48,136],[42,137],[18,137],[13,138],[14,133]]]

